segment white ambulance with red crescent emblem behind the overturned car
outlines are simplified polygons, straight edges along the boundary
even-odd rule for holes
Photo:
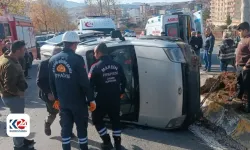
[[[110,34],[116,29],[115,22],[111,18],[106,17],[87,17],[79,20],[78,29],[102,31],[105,34]]]

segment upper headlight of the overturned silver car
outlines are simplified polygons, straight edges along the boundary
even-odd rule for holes
[[[170,61],[176,62],[176,63],[185,63],[185,57],[181,51],[180,48],[163,48],[165,53],[167,54]]]

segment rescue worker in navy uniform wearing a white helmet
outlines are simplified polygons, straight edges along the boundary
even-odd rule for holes
[[[96,108],[94,93],[80,55],[75,54],[79,36],[74,31],[64,33],[64,48],[49,61],[49,81],[52,94],[59,101],[62,148],[70,150],[73,124],[76,124],[81,150],[88,150],[88,104],[90,111]],[[87,97],[87,100],[86,100]]]

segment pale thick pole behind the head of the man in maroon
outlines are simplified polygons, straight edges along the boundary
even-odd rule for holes
[[[241,22],[250,23],[250,0],[241,0]]]

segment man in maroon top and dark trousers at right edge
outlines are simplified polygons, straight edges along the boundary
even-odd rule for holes
[[[238,31],[241,41],[236,51],[236,68],[237,68],[237,94],[242,99],[244,93],[248,96],[246,112],[250,113],[250,26],[249,23],[239,24]],[[229,99],[229,100],[232,100]]]

